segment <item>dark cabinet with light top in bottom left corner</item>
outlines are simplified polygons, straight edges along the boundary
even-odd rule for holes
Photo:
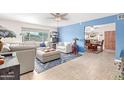
[[[5,63],[0,65],[0,80],[19,80],[20,65],[17,57],[6,57]]]

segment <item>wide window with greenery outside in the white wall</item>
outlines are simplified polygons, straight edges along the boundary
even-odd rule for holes
[[[43,31],[40,29],[22,29],[23,41],[48,41],[48,31]]]

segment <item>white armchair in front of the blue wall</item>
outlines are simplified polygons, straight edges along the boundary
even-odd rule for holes
[[[59,42],[56,45],[56,49],[63,53],[71,53],[72,52],[72,46],[70,42]]]

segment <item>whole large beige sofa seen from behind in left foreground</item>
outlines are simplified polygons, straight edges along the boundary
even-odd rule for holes
[[[8,48],[8,51],[7,51]],[[11,44],[2,52],[16,52],[16,56],[20,63],[20,74],[24,74],[34,70],[34,62],[36,58],[36,46],[24,44]]]

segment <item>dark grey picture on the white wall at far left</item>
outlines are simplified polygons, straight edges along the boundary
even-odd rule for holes
[[[2,26],[0,26],[0,38],[6,37],[16,37],[16,34],[13,31],[10,31]]]

